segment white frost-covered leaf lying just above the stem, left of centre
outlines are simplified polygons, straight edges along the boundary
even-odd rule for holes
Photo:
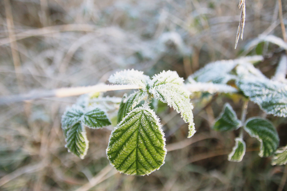
[[[138,70],[123,70],[112,74],[108,81],[113,84],[128,84],[128,85],[138,85],[142,88],[146,88],[150,81],[150,77],[144,75],[144,72]]]

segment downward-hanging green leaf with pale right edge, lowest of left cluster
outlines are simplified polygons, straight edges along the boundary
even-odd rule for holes
[[[89,141],[86,136],[85,128],[81,123],[76,123],[65,130],[66,133],[66,145],[65,147],[69,152],[77,155],[83,159],[88,151]]]

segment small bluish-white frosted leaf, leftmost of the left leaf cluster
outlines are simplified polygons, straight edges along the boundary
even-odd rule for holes
[[[84,114],[84,109],[81,106],[73,105],[68,107],[65,113],[62,115],[62,129],[73,126],[75,123],[81,121],[81,117]]]

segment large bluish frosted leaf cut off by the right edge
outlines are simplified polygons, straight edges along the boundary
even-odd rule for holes
[[[266,113],[287,117],[287,85],[263,78],[245,78],[237,86]]]

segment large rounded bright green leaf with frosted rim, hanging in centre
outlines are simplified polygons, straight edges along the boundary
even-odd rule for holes
[[[112,131],[108,160],[121,173],[146,175],[164,164],[165,138],[158,117],[149,108],[133,109]]]

